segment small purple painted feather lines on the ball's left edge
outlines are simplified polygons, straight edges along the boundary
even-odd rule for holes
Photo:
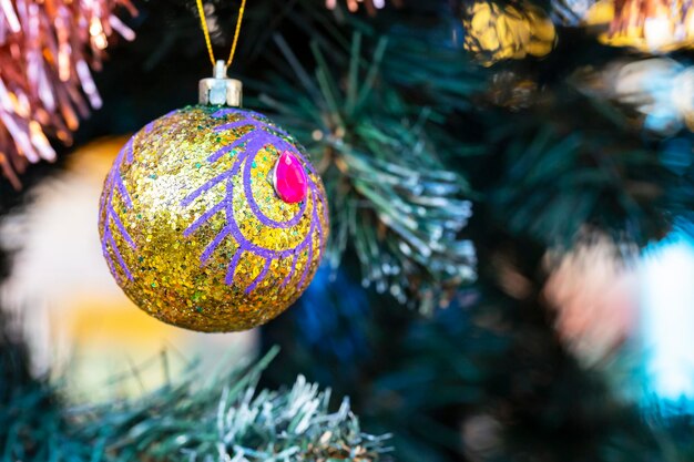
[[[127,268],[125,260],[123,259],[123,254],[121,248],[119,248],[118,243],[114,238],[114,230],[123,238],[123,240],[130,246],[131,251],[136,248],[135,242],[131,237],[127,229],[123,225],[123,222],[119,217],[119,214],[114,208],[114,199],[118,195],[121,197],[121,203],[125,209],[133,208],[133,201],[125,188],[125,184],[123,183],[123,177],[121,175],[121,168],[125,164],[131,164],[133,162],[133,140],[134,136],[131,137],[127,143],[123,146],[123,148],[119,152],[119,155],[115,157],[113,163],[113,167],[109,172],[106,176],[106,181],[103,187],[103,194],[101,196],[101,203],[99,206],[99,216],[103,219],[103,235],[101,237],[101,251],[103,253],[104,258],[109,263],[109,269],[113,277],[121,281],[121,275],[116,271],[116,267],[120,267],[123,275],[129,279],[133,279],[133,275]],[[111,248],[111,251],[109,251]]]

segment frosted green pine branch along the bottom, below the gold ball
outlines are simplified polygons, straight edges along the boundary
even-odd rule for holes
[[[354,461],[381,460],[388,435],[364,433],[343,400],[299,377],[257,390],[277,350],[255,365],[201,377],[193,369],[140,399],[67,403],[28,372],[21,341],[0,340],[0,461]]]

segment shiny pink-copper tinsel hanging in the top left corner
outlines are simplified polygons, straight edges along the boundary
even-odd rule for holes
[[[69,144],[79,116],[101,106],[90,66],[113,31],[135,37],[119,7],[136,13],[129,0],[0,1],[0,168],[16,188],[28,162],[55,158],[47,135]]]

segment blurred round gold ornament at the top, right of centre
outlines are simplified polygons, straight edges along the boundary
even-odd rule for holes
[[[528,54],[544,57],[554,47],[554,24],[540,8],[479,1],[463,12],[465,48],[486,65]]]

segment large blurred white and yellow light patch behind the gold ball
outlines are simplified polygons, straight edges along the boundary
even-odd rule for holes
[[[190,361],[200,358],[210,370],[223,352],[243,357],[257,342],[257,332],[212,336],[165,325],[119,289],[101,255],[95,217],[105,173],[126,140],[98,140],[74,152],[64,172],[0,225],[0,247],[12,253],[0,286],[3,309],[27,330],[34,371],[68,371],[75,399],[139,394]]]

